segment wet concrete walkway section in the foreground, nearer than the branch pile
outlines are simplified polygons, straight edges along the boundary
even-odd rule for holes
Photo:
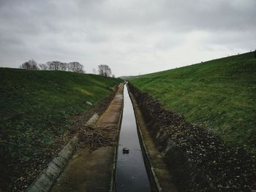
[[[51,191],[108,191],[114,147],[99,147],[92,153],[82,149],[68,164]]]

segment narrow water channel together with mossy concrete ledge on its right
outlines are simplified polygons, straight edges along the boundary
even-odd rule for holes
[[[178,191],[128,86],[118,144],[116,192]]]

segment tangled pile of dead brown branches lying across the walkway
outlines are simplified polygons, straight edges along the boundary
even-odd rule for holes
[[[79,145],[95,150],[116,144],[117,126],[85,126],[79,129]]]

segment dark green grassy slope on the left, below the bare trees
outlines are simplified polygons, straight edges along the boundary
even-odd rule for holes
[[[86,101],[96,106],[120,81],[94,74],[0,68],[2,175],[7,166],[15,174],[20,164],[42,155],[64,134],[72,117],[91,108]]]

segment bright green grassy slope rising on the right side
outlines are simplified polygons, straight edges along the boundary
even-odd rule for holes
[[[254,53],[219,58],[130,80],[190,123],[210,128],[233,145],[256,145]]]

